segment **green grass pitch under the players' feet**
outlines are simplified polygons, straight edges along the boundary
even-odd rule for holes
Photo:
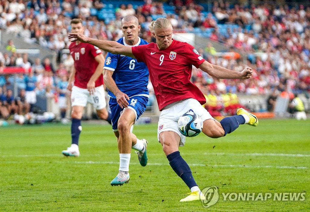
[[[180,152],[197,184],[219,189],[209,208],[179,202],[189,189],[169,166],[156,124],[135,126],[148,140],[148,165],[132,151],[131,180],[122,187],[110,185],[119,166],[111,127],[82,126],[78,158],[61,155],[71,143],[70,125],[0,128],[0,211],[310,211],[310,120],[260,120],[223,138],[188,138]],[[224,201],[223,192],[305,192],[306,199]]]

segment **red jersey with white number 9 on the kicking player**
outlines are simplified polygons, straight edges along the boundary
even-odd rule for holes
[[[158,49],[156,43],[132,47],[138,62],[144,62],[150,73],[159,110],[182,99],[197,99],[200,104],[206,98],[192,82],[192,65],[196,68],[205,60],[186,42],[173,40],[166,49]]]

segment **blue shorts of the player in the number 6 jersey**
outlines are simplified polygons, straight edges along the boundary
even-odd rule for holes
[[[146,105],[148,104],[148,97],[146,96],[133,96],[128,100],[128,108],[132,109],[135,112],[136,120],[142,115],[145,111]],[[117,122],[125,108],[121,108],[116,99],[110,98],[109,106],[111,109],[111,121],[113,131],[117,131]]]

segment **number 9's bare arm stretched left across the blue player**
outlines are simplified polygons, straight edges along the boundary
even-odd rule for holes
[[[68,38],[73,40],[71,42],[80,41],[83,43],[90,43],[91,45],[97,46],[98,48],[111,52],[112,54],[117,55],[126,55],[132,58],[135,58],[135,56],[132,54],[131,46],[124,46],[118,42],[115,41],[104,41],[104,40],[97,40],[93,38],[86,37],[83,34],[79,33],[69,33]]]

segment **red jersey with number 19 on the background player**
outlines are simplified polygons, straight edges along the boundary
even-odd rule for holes
[[[102,52],[98,47],[82,42],[79,44],[76,44],[76,42],[71,43],[69,50],[74,60],[74,85],[80,88],[87,88],[87,83],[98,66],[95,57],[102,54]],[[95,87],[101,85],[103,85],[102,74],[96,80]]]

